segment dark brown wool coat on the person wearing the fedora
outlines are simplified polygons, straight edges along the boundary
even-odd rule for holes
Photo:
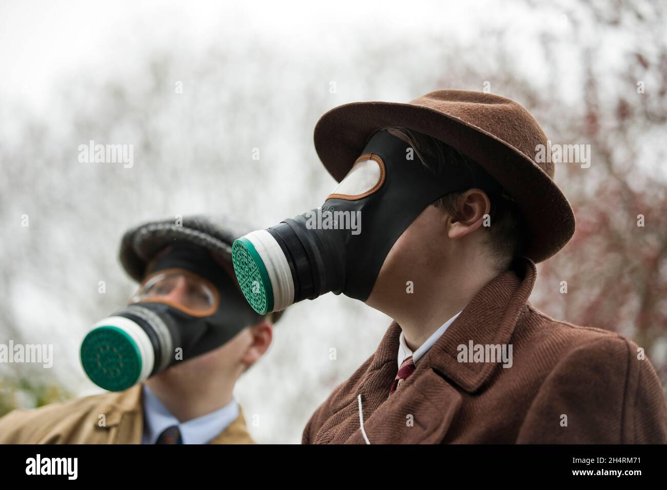
[[[520,259],[514,269],[482,288],[388,397],[401,332],[392,323],[315,411],[303,443],[363,444],[358,395],[371,444],[667,443],[664,390],[638,346],[536,310],[534,263]],[[512,367],[458,362],[457,346],[470,340],[512,344]]]

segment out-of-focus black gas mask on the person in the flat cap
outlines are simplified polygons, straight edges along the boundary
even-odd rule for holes
[[[207,249],[178,243],[155,260],[129,305],[93,325],[81,364],[93,383],[121,391],[223,345],[259,319]]]

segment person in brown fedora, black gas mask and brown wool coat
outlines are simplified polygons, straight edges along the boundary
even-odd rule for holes
[[[535,264],[575,220],[522,105],[457,90],[350,103],[314,140],[340,184],[235,241],[241,290],[260,313],[333,291],[394,321],[303,443],[667,442],[664,391],[638,345],[528,301]]]

